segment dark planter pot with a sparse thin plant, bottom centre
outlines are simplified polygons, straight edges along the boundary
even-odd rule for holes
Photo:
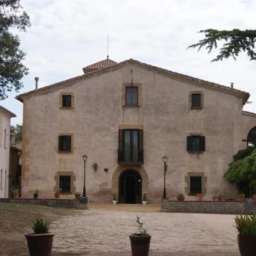
[[[132,256],[148,256],[151,236],[130,236]]]

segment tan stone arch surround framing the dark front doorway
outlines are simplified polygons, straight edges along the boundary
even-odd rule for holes
[[[112,193],[116,193],[116,196],[118,197],[118,192],[119,192],[119,176],[122,172],[124,172],[125,170],[135,170],[137,171],[143,182],[142,182],[142,194],[143,193],[148,193],[148,174],[145,171],[145,169],[143,168],[143,166],[139,166],[139,165],[119,165],[112,176]],[[118,198],[117,198],[118,200]]]

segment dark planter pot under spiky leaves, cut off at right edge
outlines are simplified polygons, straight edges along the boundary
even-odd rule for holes
[[[241,256],[255,256],[256,236],[238,235],[238,246]]]

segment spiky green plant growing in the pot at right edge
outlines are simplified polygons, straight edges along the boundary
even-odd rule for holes
[[[240,235],[256,236],[256,212],[253,215],[236,215],[236,230]]]

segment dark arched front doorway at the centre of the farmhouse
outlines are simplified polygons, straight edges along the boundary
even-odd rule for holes
[[[119,204],[141,204],[142,178],[135,170],[125,170],[119,176]]]

